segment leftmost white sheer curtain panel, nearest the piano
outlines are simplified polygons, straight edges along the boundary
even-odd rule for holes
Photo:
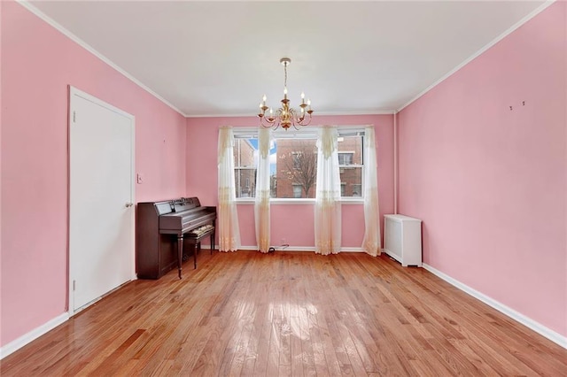
[[[217,219],[219,250],[221,251],[236,251],[240,247],[233,146],[232,128],[221,127],[218,150],[219,215]]]

